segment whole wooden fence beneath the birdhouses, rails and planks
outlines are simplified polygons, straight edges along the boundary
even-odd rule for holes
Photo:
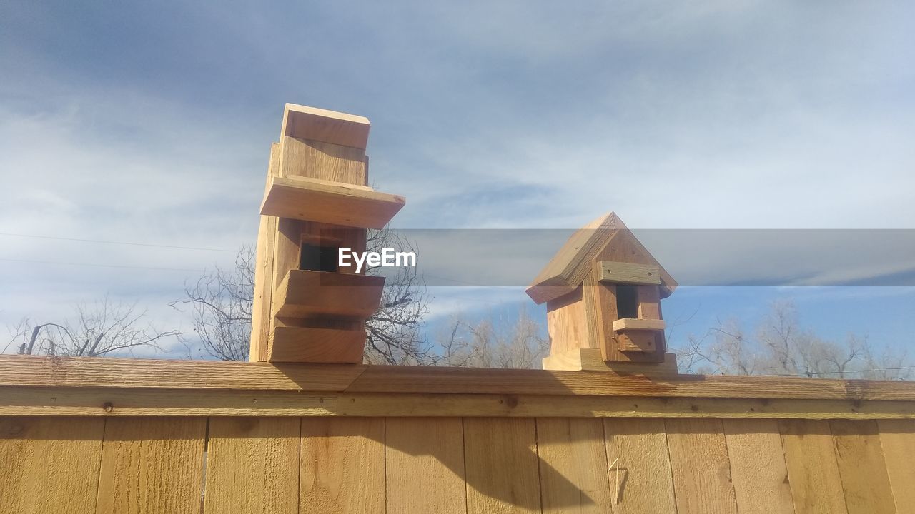
[[[0,358],[3,513],[915,512],[915,384]]]

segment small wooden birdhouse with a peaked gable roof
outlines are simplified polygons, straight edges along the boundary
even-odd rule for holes
[[[675,372],[664,353],[661,299],[676,285],[615,213],[577,230],[527,288],[546,303],[544,369]]]

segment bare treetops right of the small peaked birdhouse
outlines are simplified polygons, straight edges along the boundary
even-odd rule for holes
[[[867,337],[835,342],[802,329],[790,302],[773,304],[755,337],[735,321],[719,320],[701,337],[687,337],[676,353],[682,369],[705,374],[909,380],[913,370],[904,350],[887,347],[877,355]]]

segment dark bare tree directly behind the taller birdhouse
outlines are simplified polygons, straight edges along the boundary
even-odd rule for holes
[[[415,250],[393,230],[369,230],[366,248]],[[204,351],[223,360],[247,360],[251,341],[255,253],[242,247],[231,270],[217,267],[185,288],[185,298],[170,305],[189,305],[192,324]],[[381,270],[369,268],[366,273]],[[398,268],[384,283],[379,309],[366,321],[365,359],[386,364],[432,364],[436,356],[419,334],[428,298],[416,268]],[[185,339],[186,344],[194,341]]]

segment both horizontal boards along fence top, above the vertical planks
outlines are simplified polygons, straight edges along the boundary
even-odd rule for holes
[[[915,382],[0,356],[0,414],[915,418]]]

